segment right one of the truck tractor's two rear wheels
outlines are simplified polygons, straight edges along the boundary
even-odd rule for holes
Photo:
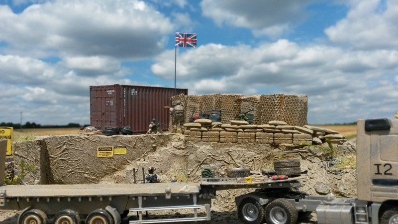
[[[267,224],[296,224],[297,219],[296,207],[286,199],[275,199],[265,207]]]

